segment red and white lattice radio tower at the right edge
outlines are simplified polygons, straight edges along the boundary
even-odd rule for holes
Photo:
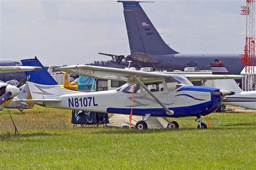
[[[252,91],[256,87],[255,78],[255,3],[256,0],[246,0],[246,6],[241,6],[241,15],[246,16],[245,53],[241,56],[245,64],[244,90]]]

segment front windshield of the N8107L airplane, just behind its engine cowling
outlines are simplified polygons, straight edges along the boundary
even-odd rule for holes
[[[179,84],[193,86],[193,84],[185,76],[172,75],[165,79],[168,90],[177,89]]]

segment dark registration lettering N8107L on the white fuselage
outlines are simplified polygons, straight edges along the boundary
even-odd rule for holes
[[[69,107],[98,106],[94,97],[69,98]]]

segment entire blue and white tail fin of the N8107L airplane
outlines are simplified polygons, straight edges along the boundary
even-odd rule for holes
[[[60,86],[36,57],[24,59],[21,62],[24,66],[42,67],[42,70],[39,71],[25,72],[26,76],[30,76],[28,85],[33,99],[55,99],[62,93]]]

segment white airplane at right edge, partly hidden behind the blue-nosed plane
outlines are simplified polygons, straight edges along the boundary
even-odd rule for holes
[[[212,74],[228,74],[222,62],[211,64]],[[227,105],[251,108],[256,110],[256,91],[242,91],[235,80],[214,80],[214,85],[222,90],[231,91],[232,95],[225,96],[223,103]]]

